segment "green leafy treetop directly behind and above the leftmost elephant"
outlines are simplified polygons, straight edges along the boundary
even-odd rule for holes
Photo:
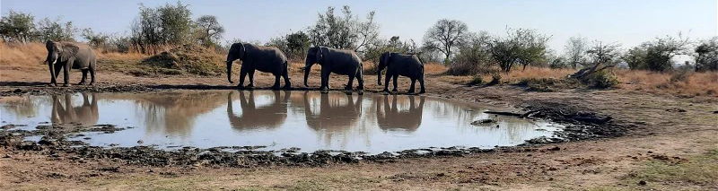
[[[74,28],[73,22],[62,23],[59,19],[51,21],[48,18],[38,22],[38,36],[40,41],[74,41],[74,34],[77,29]]]

